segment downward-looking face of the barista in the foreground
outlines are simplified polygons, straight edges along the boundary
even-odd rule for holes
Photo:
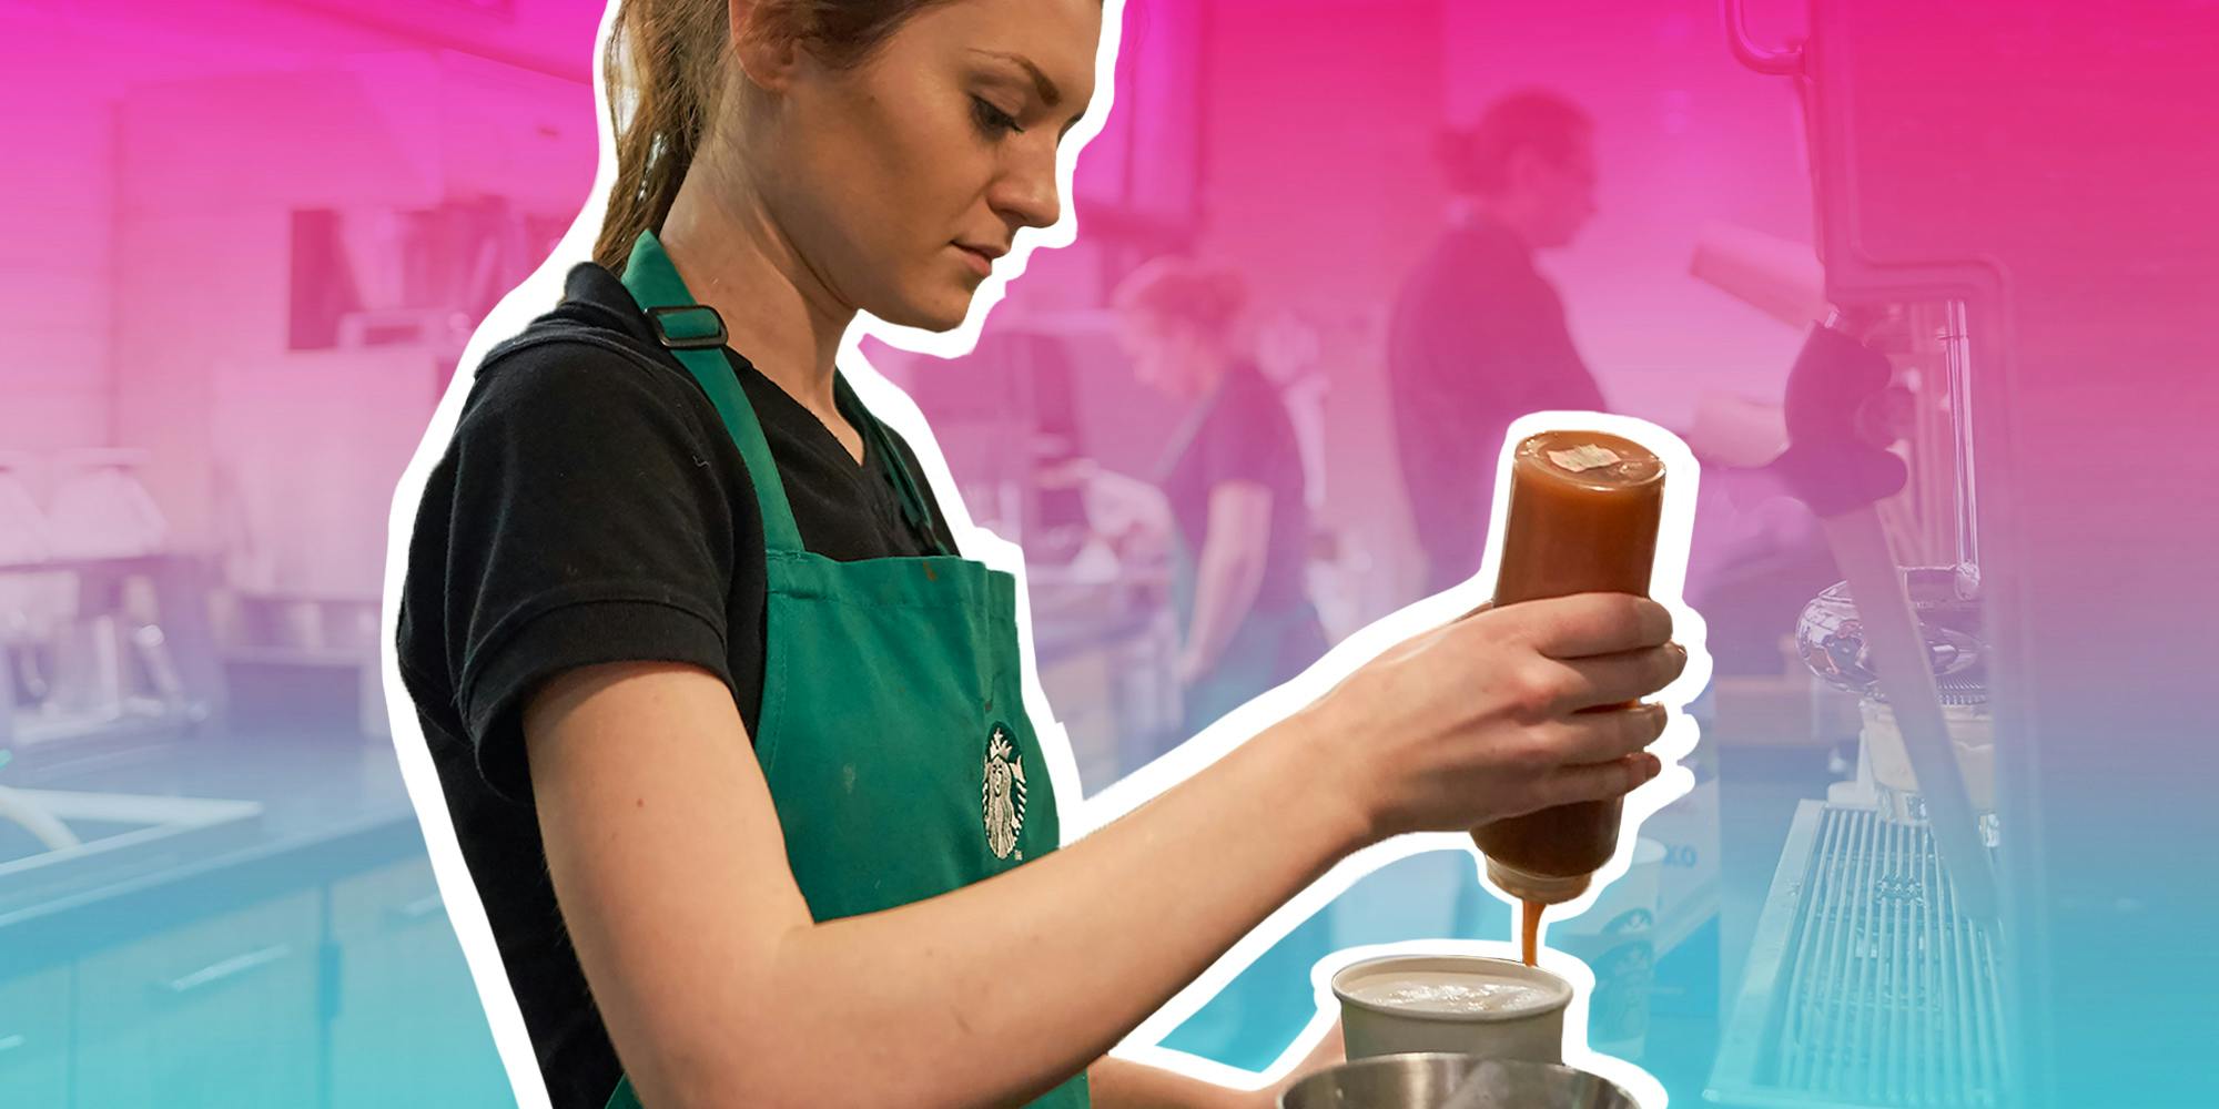
[[[1056,146],[1094,98],[1101,16],[1101,0],[950,0],[854,69],[803,51],[752,175],[841,308],[954,328],[990,255],[1056,222]]]

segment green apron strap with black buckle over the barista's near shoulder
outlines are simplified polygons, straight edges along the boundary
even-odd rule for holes
[[[632,257],[624,264],[624,288],[648,313],[655,337],[677,355],[686,373],[708,393],[717,415],[723,417],[723,430],[739,446],[739,457],[748,464],[748,481],[754,484],[754,503],[763,512],[763,546],[768,550],[801,550],[801,528],[794,523],[792,506],[786,503],[786,481],[770,457],[770,444],[763,439],[763,426],[754,419],[754,406],[748,404],[739,377],[732,375],[732,362],[723,355],[723,317],[706,304],[695,304],[686,279],[670,264],[655,231],[641,231],[639,240],[632,242]]]

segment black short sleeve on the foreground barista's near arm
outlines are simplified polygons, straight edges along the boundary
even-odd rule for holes
[[[448,448],[444,625],[479,772],[510,798],[530,796],[521,708],[555,674],[675,661],[732,685],[734,548],[761,521],[734,519],[743,464],[690,390],[573,342],[504,355],[473,386]]]

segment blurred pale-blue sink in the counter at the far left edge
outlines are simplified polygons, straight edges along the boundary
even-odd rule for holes
[[[180,867],[253,838],[257,801],[11,790],[60,821],[78,845],[47,847],[0,818],[0,916],[142,874]]]

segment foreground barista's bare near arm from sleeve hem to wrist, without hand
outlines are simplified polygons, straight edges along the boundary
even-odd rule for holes
[[[814,925],[719,679],[575,670],[524,728],[564,920],[652,1109],[1023,1102],[1365,838],[1289,721],[1041,861]]]

